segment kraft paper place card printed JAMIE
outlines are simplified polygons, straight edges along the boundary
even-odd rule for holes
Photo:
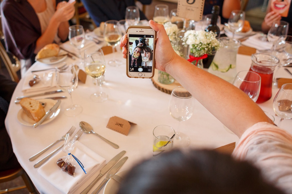
[[[121,134],[128,135],[131,124],[136,124],[125,119],[119,118],[117,116],[113,116],[109,118],[109,122],[107,123],[107,128],[117,131]]]

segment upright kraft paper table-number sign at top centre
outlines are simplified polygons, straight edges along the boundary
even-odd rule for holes
[[[177,14],[185,19],[200,21],[203,16],[205,0],[178,0]]]

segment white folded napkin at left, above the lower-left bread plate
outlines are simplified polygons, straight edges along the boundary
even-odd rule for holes
[[[29,80],[34,77],[34,74],[27,74],[24,77],[24,82],[22,86],[23,93],[30,93],[30,92],[41,92],[44,90],[53,90],[57,89],[57,81],[55,72],[52,71],[45,71],[43,73],[39,72],[38,75],[41,77],[41,80],[34,84],[33,86],[29,86]]]

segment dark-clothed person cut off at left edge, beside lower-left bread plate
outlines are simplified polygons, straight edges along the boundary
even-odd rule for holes
[[[20,164],[13,153],[11,140],[4,124],[8,106],[17,83],[1,74],[0,83],[0,170],[2,171],[18,168]]]

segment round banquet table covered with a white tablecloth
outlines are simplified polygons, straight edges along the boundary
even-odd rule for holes
[[[119,54],[119,56],[121,56],[121,54]],[[106,60],[109,61],[113,58],[113,55],[108,54],[105,57]],[[120,60],[123,61],[123,64],[126,64],[126,59],[121,58]],[[75,63],[74,60],[69,57],[66,58],[65,61],[67,63]],[[248,70],[250,64],[250,56],[242,54],[237,55],[237,71]],[[56,66],[60,66],[60,64],[46,65],[36,62],[30,67],[27,74],[30,73],[31,70]],[[81,69],[83,69],[83,67],[81,67]],[[279,70],[279,75],[281,77],[291,78],[285,71]],[[29,157],[60,138],[71,126],[75,126],[79,129],[80,121],[88,122],[93,126],[95,132],[119,145],[119,149],[114,149],[92,134],[83,134],[81,136],[79,141],[104,157],[106,162],[122,150],[126,150],[124,156],[128,156],[128,160],[119,171],[129,169],[138,161],[152,157],[152,131],[154,127],[166,124],[176,129],[178,126],[178,121],[173,119],[168,111],[170,95],[155,88],[151,79],[128,78],[126,76],[125,65],[120,65],[119,67],[107,65],[105,84],[102,86],[104,92],[108,94],[108,100],[105,102],[93,103],[89,99],[89,96],[96,91],[96,86],[89,76],[85,84],[79,82],[77,89],[72,92],[72,97],[74,104],[81,105],[83,111],[76,117],[68,117],[64,114],[64,107],[71,103],[67,92],[43,96],[52,97],[65,95],[68,98],[62,99],[60,113],[54,120],[47,124],[40,125],[37,128],[22,125],[17,118],[17,113],[21,107],[19,104],[13,103],[13,101],[16,97],[24,95],[22,93],[23,81],[24,79],[21,79],[15,89],[5,124],[18,161],[40,193],[61,193],[44,179],[37,172],[38,169],[34,168],[33,165],[55,148],[62,145],[62,143],[59,142],[58,145],[55,145],[34,161],[29,161]],[[273,88],[272,98],[265,103],[259,104],[264,111],[270,112],[273,115],[275,114],[272,109],[272,102],[277,91],[278,88]],[[242,107],[243,110],[245,108],[246,107]],[[106,127],[109,118],[113,116],[118,116],[135,123],[131,125],[128,136]],[[275,123],[277,124],[278,121],[279,117],[275,116]],[[282,128],[290,133],[292,131],[291,126],[291,119],[283,120]],[[223,124],[197,101],[192,117],[182,122],[181,127],[181,132],[190,137],[189,147],[192,148],[214,149],[228,143],[237,143],[239,140],[235,134],[228,132],[223,127]],[[92,176],[86,184],[82,185],[76,191],[76,193],[80,193],[98,174],[99,172]],[[89,193],[91,193],[103,179],[104,177],[91,188]],[[102,192],[103,188],[99,193]]]

